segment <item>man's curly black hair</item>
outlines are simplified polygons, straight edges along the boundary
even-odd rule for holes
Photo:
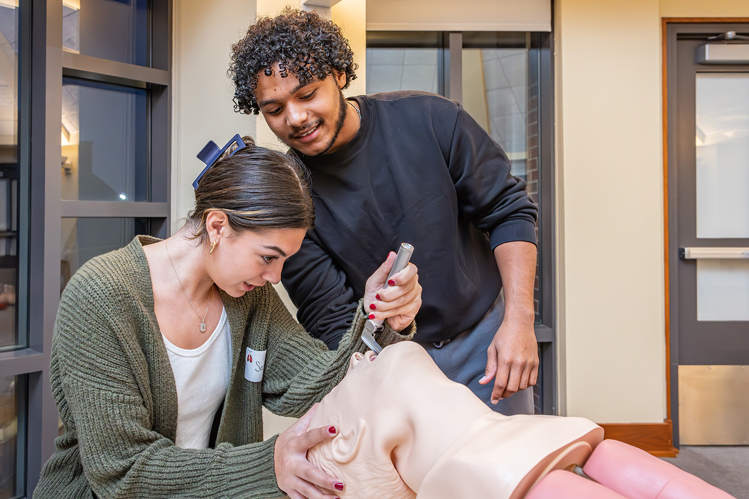
[[[325,79],[333,70],[346,73],[346,85],[357,78],[354,51],[333,22],[315,12],[286,7],[276,17],[261,17],[251,25],[242,40],[231,46],[227,74],[234,80],[234,111],[258,114],[255,98],[258,73],[293,73],[301,85],[315,78]]]

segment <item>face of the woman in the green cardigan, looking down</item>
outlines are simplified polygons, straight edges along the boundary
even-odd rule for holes
[[[305,233],[304,229],[233,233],[228,227],[222,227],[219,244],[207,257],[210,278],[234,298],[267,282],[278,284],[283,263],[299,251]]]

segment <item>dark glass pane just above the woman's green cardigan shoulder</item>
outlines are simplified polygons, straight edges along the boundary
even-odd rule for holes
[[[60,291],[88,260],[148,234],[148,218],[62,218]]]

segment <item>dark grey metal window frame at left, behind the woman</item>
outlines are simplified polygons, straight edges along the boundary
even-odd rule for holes
[[[169,229],[172,135],[172,1],[149,6],[151,67],[62,50],[62,2],[19,2],[19,321],[18,343],[0,350],[0,377],[17,376],[16,497],[31,497],[58,436],[49,383],[52,328],[59,303],[61,219],[148,218]],[[74,77],[148,91],[150,201],[61,200],[62,79]]]

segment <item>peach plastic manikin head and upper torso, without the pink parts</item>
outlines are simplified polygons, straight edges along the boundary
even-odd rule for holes
[[[549,471],[581,465],[603,429],[581,417],[503,416],[452,382],[409,342],[355,353],[311,428],[339,435],[308,459],[342,499],[519,499]]]

